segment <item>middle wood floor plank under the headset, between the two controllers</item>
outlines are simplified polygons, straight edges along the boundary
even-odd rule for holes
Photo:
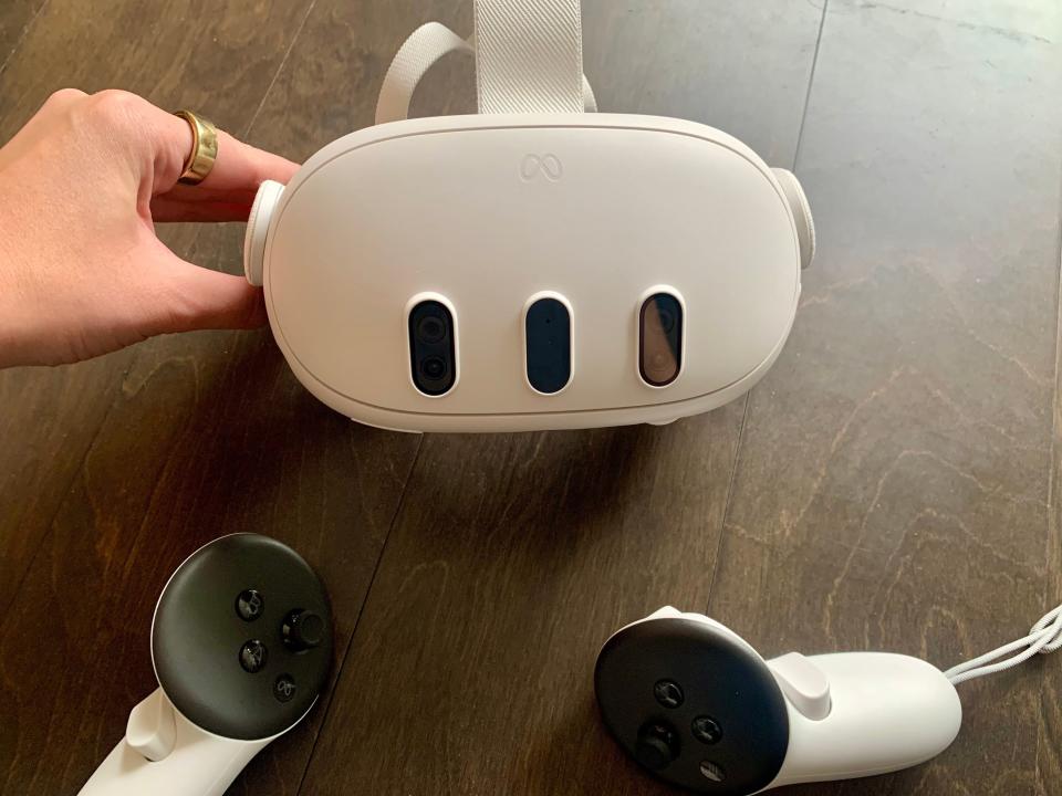
[[[819,9],[584,9],[604,108],[735,122],[791,163]],[[424,21],[407,11],[395,42]],[[372,18],[319,12],[327,25],[306,41],[324,51],[333,27]],[[764,80],[780,63],[803,84]],[[742,413],[738,401],[665,429],[426,438],[301,792],[643,792],[598,726],[594,657],[622,618],[707,601]]]

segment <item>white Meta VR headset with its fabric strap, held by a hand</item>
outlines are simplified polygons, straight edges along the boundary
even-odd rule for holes
[[[479,114],[407,119],[442,55]],[[248,280],[300,381],[404,431],[666,423],[747,391],[789,336],[814,228],[795,177],[717,129],[593,113],[579,0],[428,23],[376,126],[266,182]]]

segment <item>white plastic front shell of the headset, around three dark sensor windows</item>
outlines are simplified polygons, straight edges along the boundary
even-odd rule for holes
[[[775,175],[737,139],[679,119],[397,122],[329,145],[273,199],[262,271],[278,344],[317,398],[385,428],[707,411],[774,362],[800,293],[800,241]],[[637,370],[639,300],[656,284],[686,303],[681,378],[664,389]],[[572,379],[554,395],[524,373],[522,313],[544,291],[577,318]],[[461,329],[460,383],[442,397],[410,384],[405,312],[420,293],[445,296]]]

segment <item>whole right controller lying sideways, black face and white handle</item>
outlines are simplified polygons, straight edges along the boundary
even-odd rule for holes
[[[644,767],[735,796],[913,766],[962,720],[951,681],[917,658],[764,660],[719,622],[669,607],[605,642],[595,689],[608,730]]]

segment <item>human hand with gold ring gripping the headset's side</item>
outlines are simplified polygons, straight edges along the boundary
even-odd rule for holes
[[[0,148],[0,367],[59,365],[147,337],[266,321],[260,290],[174,254],[156,221],[246,221],[298,166],[219,133],[197,186],[188,124],[134,94],[53,94]]]

